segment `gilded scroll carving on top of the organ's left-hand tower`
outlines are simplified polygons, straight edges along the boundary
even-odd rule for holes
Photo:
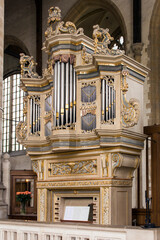
[[[37,63],[34,61],[32,56],[27,56],[24,53],[20,53],[20,65],[22,77],[39,78],[38,73],[36,73],[34,70]]]

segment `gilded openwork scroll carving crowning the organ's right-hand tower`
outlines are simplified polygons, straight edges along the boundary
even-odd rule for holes
[[[123,51],[120,51],[119,49],[109,49],[109,44],[114,38],[109,34],[108,28],[100,28],[97,24],[93,26],[93,29],[94,53],[110,55],[119,55],[123,53]]]

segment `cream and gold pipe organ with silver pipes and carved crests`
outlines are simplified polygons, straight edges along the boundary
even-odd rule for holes
[[[129,225],[148,69],[110,49],[108,29],[93,26],[90,39],[58,7],[45,38],[42,76],[21,54],[25,122],[16,129],[37,173],[38,220],[80,221],[84,212],[83,222]]]

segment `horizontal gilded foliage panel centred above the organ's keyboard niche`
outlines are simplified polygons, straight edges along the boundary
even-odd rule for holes
[[[67,163],[50,163],[50,176],[68,176],[73,174],[96,174],[97,161],[77,161]]]

